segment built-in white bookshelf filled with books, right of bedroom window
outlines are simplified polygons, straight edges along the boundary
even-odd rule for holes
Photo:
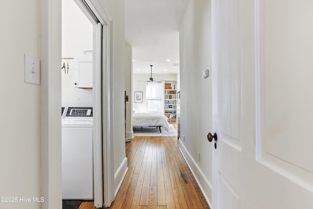
[[[164,81],[164,115],[168,118],[171,114],[174,114],[174,120],[176,120],[177,114],[177,81],[165,80]]]

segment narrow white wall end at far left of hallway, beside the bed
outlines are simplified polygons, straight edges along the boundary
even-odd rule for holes
[[[133,138],[133,48],[125,44],[125,91],[128,95],[128,102],[126,102],[126,139]]]

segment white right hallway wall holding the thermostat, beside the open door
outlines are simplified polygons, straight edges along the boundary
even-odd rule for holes
[[[190,0],[179,29],[180,148],[209,201],[212,151],[206,135],[212,130],[212,85],[201,71],[212,65],[210,14],[210,0]]]

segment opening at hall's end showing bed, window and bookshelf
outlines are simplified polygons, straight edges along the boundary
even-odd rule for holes
[[[179,72],[178,66],[177,71]],[[138,136],[135,133],[136,131],[138,132],[138,129],[136,127],[161,126],[161,130],[165,130],[164,133],[166,133],[170,130],[169,127],[173,125],[176,127],[178,122],[177,111],[179,73],[166,74],[162,71],[159,71],[155,74],[152,74],[152,76],[154,79],[153,82],[147,81],[147,78],[149,79],[150,77],[149,74],[133,72],[133,136]],[[143,118],[140,117],[144,117],[144,115],[149,115],[150,119],[147,121],[143,121]],[[160,117],[153,121],[151,118],[155,117],[156,115]],[[165,122],[161,122],[163,121],[163,118],[165,118]],[[157,132],[157,130],[155,131]],[[162,133],[162,135],[164,133]]]

